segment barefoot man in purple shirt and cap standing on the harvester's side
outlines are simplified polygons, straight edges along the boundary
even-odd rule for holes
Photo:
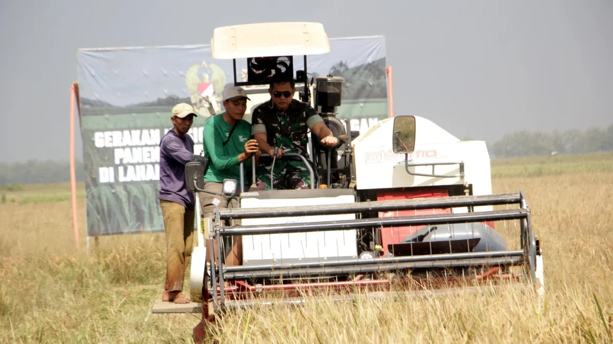
[[[188,135],[196,112],[191,105],[177,104],[170,121],[174,125],[159,143],[159,203],[164,216],[168,252],[166,283],[162,301],[186,304],[183,279],[193,246],[194,195],[186,189],[185,165],[194,155],[194,141]]]

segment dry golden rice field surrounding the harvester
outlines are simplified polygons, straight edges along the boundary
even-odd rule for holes
[[[503,290],[255,308],[226,316],[211,337],[248,343],[613,342],[613,159],[595,159],[606,170],[493,180],[495,192],[528,195],[545,255],[543,304],[529,292]],[[521,168],[509,160],[493,165]],[[48,187],[26,185],[23,193],[44,195]],[[68,185],[50,188],[69,191]],[[83,238],[85,204],[79,204]],[[161,294],[164,255],[164,237],[149,234],[102,237],[101,251],[86,256],[74,249],[69,201],[0,204],[0,343],[191,342],[199,318],[150,313]]]

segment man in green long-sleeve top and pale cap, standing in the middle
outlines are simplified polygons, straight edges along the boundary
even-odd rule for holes
[[[256,140],[249,140],[251,124],[243,119],[247,109],[247,94],[245,89],[235,86],[224,92],[224,107],[226,111],[207,119],[204,125],[204,151],[210,160],[207,173],[204,176],[204,190],[221,193],[224,179],[236,179],[240,184],[240,163],[245,163],[245,170],[251,171],[251,159],[259,159],[261,152]],[[247,176],[247,173],[245,173]],[[245,182],[249,178],[245,178]],[[240,189],[240,185],[238,185]],[[211,217],[216,206],[219,209],[238,208],[235,199],[200,192],[200,205],[204,217]],[[217,201],[216,201],[217,200]],[[218,205],[216,205],[218,203]],[[240,225],[239,220],[233,221]],[[208,242],[207,242],[208,244]],[[215,243],[215,245],[217,245]],[[240,236],[227,238],[223,242],[226,265],[237,265],[242,262]],[[232,252],[230,252],[230,248]],[[208,254],[212,250],[207,249]],[[215,256],[217,256],[215,254]]]

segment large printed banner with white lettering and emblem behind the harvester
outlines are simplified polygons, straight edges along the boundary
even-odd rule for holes
[[[337,110],[351,130],[387,118],[384,37],[330,39],[330,53],[307,58],[309,77],[345,78]],[[198,154],[204,122],[224,111],[223,91],[234,84],[232,60],[213,59],[209,45],[83,49],[77,60],[88,236],[163,231],[159,141],[172,128],[170,110],[185,102],[199,113],[189,132]],[[304,68],[303,56],[293,61],[294,73]],[[245,67],[237,60],[237,81],[246,81]]]

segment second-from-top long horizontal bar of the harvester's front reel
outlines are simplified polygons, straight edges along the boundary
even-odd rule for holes
[[[219,226],[220,236],[304,233],[314,231],[352,230],[383,226],[443,225],[497,220],[526,219],[526,209],[468,212],[460,214],[435,214],[403,217],[376,217],[374,219],[335,220],[308,223],[281,223],[278,225]]]

